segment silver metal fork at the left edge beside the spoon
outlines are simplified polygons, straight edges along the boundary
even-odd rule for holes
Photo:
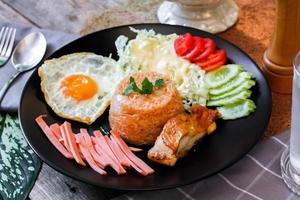
[[[0,66],[9,59],[16,37],[16,29],[12,27],[2,27],[0,30]]]

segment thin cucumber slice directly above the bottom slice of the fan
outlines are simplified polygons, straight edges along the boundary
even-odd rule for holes
[[[212,100],[207,102],[207,106],[223,106],[227,104],[234,104],[237,103],[241,100],[246,100],[251,96],[251,91],[250,90],[244,90],[240,92],[237,95],[229,96],[223,99],[218,99],[218,100]]]

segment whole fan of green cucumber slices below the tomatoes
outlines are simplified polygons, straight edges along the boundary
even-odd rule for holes
[[[225,65],[206,74],[210,86],[207,106],[216,106],[224,120],[237,119],[254,112],[255,103],[248,99],[255,85],[251,72],[243,72],[241,65]]]

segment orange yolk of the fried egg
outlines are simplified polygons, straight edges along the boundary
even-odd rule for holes
[[[60,87],[66,97],[72,97],[78,101],[89,99],[97,93],[95,81],[83,74],[64,78]]]

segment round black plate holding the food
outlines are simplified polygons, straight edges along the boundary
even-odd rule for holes
[[[89,167],[80,167],[74,161],[64,158],[35,123],[34,119],[40,114],[47,114],[48,123],[62,123],[64,121],[46,104],[40,89],[40,79],[37,71],[35,71],[24,88],[19,107],[19,118],[24,135],[38,156],[61,173],[86,183],[120,190],[154,190],[171,188],[204,179],[230,166],[245,155],[263,134],[271,113],[270,89],[255,62],[230,42],[197,29],[162,24],[131,26],[137,29],[153,29],[162,34],[190,32],[192,35],[212,38],[219,48],[226,50],[229,63],[242,64],[246,66],[247,71],[253,72],[257,84],[252,88],[253,95],[251,98],[257,106],[256,111],[249,117],[239,120],[219,120],[216,132],[200,142],[196,146],[195,152],[180,160],[173,168],[147,161],[146,151],[144,151],[138,155],[155,169],[153,175],[142,177],[136,172],[130,171],[127,175],[118,176],[109,171],[109,175],[101,176]],[[89,51],[104,56],[109,56],[112,53],[112,57],[117,59],[114,42],[119,35],[126,35],[129,38],[135,37],[135,33],[131,32],[128,26],[106,29],[69,43],[49,58]],[[107,125],[107,117],[108,111],[89,129],[97,129],[100,124]],[[74,130],[78,130],[79,127],[86,127],[86,125],[74,123]]]

